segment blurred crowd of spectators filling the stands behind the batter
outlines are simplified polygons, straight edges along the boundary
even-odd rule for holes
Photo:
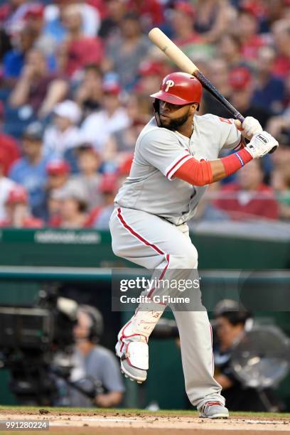
[[[10,0],[0,1],[1,227],[108,227],[149,95],[176,70],[149,41],[154,26],[280,144],[210,186],[196,220],[289,220],[289,0]],[[230,117],[204,92],[208,112]]]

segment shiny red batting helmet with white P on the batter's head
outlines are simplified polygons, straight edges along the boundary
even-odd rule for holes
[[[197,78],[187,73],[171,73],[163,78],[161,90],[150,97],[171,104],[200,104],[203,87]]]

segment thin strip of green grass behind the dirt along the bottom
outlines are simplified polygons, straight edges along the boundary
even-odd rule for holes
[[[183,409],[159,409],[159,411],[149,411],[148,409],[123,409],[123,408],[116,408],[116,409],[104,409],[104,408],[67,408],[67,407],[21,407],[21,406],[0,406],[0,413],[1,412],[16,412],[16,411],[26,411],[38,414],[39,409],[46,409],[47,411],[51,413],[60,412],[63,414],[87,414],[90,416],[90,414],[116,414],[117,412],[119,414],[147,414],[151,415],[154,414],[156,416],[168,416],[168,415],[177,415],[177,416],[195,416],[197,415],[197,412],[193,409],[191,410],[183,410]],[[231,417],[264,417],[267,419],[290,419],[290,413],[288,412],[230,412]],[[43,417],[45,417],[45,414],[43,414]]]

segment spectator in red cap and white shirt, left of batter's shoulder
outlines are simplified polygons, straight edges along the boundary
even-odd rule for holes
[[[92,143],[102,153],[109,135],[129,125],[126,109],[120,102],[121,88],[117,83],[104,83],[103,109],[90,114],[81,125],[84,141]]]

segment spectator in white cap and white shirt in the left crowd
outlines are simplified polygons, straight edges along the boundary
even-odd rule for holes
[[[65,151],[80,144],[80,107],[71,100],[55,105],[53,124],[45,129],[43,148],[45,155],[63,158]]]

